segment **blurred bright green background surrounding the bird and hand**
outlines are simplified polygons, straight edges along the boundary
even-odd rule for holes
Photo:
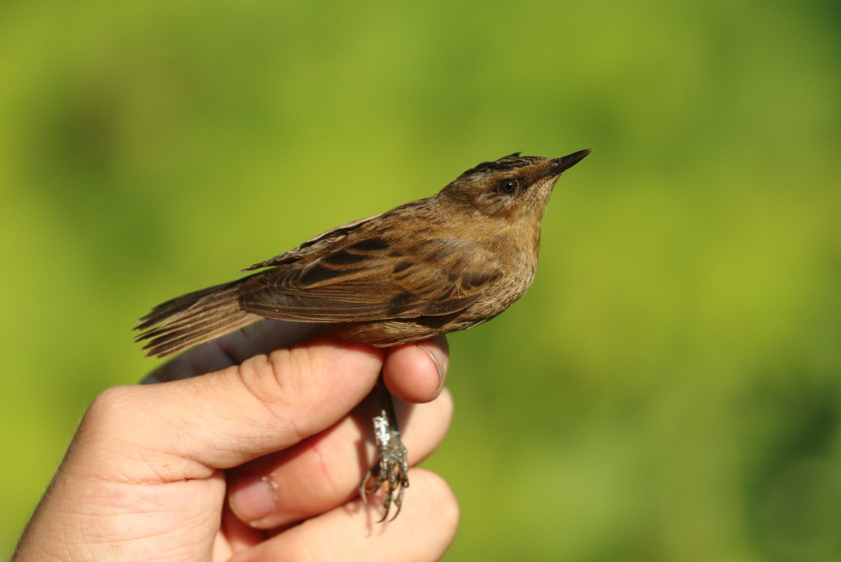
[[[156,364],[151,305],[477,162],[592,148],[530,293],[450,338],[445,559],[841,559],[839,16],[0,3],[0,555],[94,396]]]

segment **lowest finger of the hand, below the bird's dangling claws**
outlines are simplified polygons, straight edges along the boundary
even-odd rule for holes
[[[439,476],[423,469],[409,474],[415,493],[392,522],[378,525],[380,514],[356,500],[236,554],[230,562],[440,559],[458,527],[458,504]]]

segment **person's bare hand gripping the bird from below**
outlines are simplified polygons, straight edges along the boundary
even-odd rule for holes
[[[439,559],[458,524],[443,480],[411,469],[413,501],[385,525],[357,486],[373,457],[377,400],[366,396],[381,369],[410,403],[398,404],[410,463],[442,442],[452,416],[446,341],[275,349],[290,337],[307,333],[262,322],[144,381],[167,384],[105,390],[13,560]]]

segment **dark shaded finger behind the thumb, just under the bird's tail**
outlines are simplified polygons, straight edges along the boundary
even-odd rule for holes
[[[218,337],[162,363],[140,381],[141,384],[189,379],[212,373],[278,347],[290,347],[320,331],[321,326],[305,322],[265,320]]]

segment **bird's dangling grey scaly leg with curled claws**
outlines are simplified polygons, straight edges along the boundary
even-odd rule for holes
[[[403,494],[405,489],[409,487],[409,457],[403,441],[400,439],[397,416],[394,415],[394,400],[392,400],[391,393],[385,387],[382,375],[380,375],[378,386],[380,414],[373,418],[373,437],[375,443],[377,443],[379,460],[362,480],[362,485],[359,486],[359,496],[362,497],[363,502],[368,503],[368,494],[373,494],[379,490],[383,482],[388,482],[389,491],[383,502],[385,515],[379,520],[379,522],[383,522],[386,517],[389,517],[392,503],[397,508],[394,517],[398,516],[400,507],[403,506]],[[395,490],[397,491],[396,497],[394,496]],[[391,517],[389,521],[394,521],[394,517]]]

